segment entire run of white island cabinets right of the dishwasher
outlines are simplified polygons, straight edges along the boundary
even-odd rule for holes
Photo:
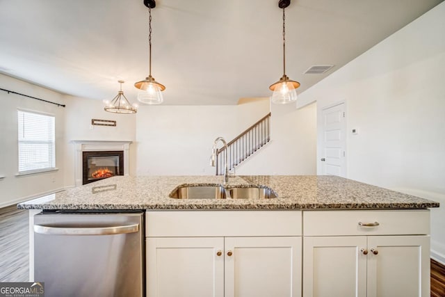
[[[147,296],[427,297],[429,214],[147,211]]]

